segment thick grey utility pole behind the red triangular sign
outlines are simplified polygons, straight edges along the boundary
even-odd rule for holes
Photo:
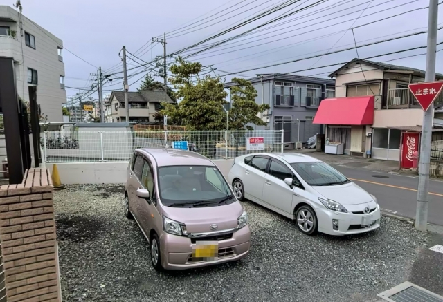
[[[437,19],[438,0],[429,0],[428,12],[428,45],[426,48],[426,73],[424,82],[435,81],[435,50],[437,49]],[[417,212],[415,214],[415,228],[420,231],[428,229],[428,190],[429,167],[431,162],[431,139],[434,105],[431,104],[423,112],[422,143],[420,147],[419,180],[417,193]]]

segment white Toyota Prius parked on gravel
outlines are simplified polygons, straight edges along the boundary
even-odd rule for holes
[[[239,200],[247,198],[296,220],[303,234],[359,234],[380,227],[377,198],[311,156],[239,156],[229,180]]]

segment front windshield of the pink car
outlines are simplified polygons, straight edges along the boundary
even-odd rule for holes
[[[159,167],[159,193],[161,202],[167,206],[218,205],[235,201],[217,167]]]

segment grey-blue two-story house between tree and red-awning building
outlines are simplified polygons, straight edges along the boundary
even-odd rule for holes
[[[325,98],[335,97],[334,80],[272,73],[257,75],[248,81],[257,91],[255,102],[271,107],[260,115],[268,125],[251,125],[255,129],[283,129],[285,149],[294,149],[295,142],[307,142],[312,135],[322,133],[322,126],[313,124],[312,121],[320,102]],[[224,87],[235,85],[230,82]]]

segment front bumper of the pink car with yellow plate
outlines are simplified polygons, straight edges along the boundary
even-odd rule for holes
[[[219,256],[216,261],[191,261],[191,239],[185,236],[164,234],[160,238],[161,261],[165,270],[187,270],[229,261],[236,261],[249,254],[251,231],[246,225],[233,233],[232,238],[218,241]]]

